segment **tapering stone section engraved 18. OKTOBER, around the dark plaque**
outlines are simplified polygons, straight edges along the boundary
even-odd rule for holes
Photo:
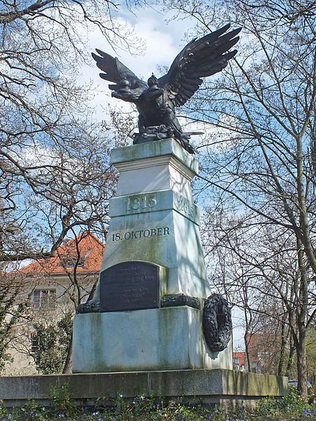
[[[199,227],[173,210],[112,218],[101,272],[129,260],[168,269],[161,294],[210,295]]]

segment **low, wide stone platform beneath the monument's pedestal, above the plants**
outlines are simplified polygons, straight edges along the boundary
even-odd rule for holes
[[[165,396],[184,397],[190,402],[220,403],[225,400],[246,401],[263,396],[287,394],[287,377],[249,374],[233,370],[169,370],[134,373],[94,373],[73,375],[38,375],[0,377],[0,399],[6,406],[20,406],[35,399],[48,403],[51,387],[67,382],[70,394],[77,401],[124,397]]]

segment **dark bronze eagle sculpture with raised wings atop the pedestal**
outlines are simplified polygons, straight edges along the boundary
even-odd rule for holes
[[[109,85],[112,97],[133,102],[138,110],[138,130],[133,143],[162,138],[176,138],[188,152],[194,153],[190,135],[184,133],[175,114],[175,107],[184,105],[202,84],[202,78],[223,70],[237,50],[229,51],[239,41],[240,28],[227,32],[230,24],[192,39],[173,60],[167,74],[157,79],[154,74],[147,83],[138,79],[118,58],[96,49],[92,53],[96,65],[104,73],[100,77],[114,82]]]

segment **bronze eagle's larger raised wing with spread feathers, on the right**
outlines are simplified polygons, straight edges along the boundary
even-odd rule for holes
[[[192,41],[173,60],[169,72],[158,79],[158,86],[164,88],[175,107],[185,104],[197,91],[202,77],[218,73],[228,65],[237,53],[230,51],[239,40],[241,28],[225,32],[230,24]]]

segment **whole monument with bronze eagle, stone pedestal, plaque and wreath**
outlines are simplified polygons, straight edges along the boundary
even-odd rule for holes
[[[119,182],[96,294],[74,319],[74,373],[232,368],[230,310],[211,295],[192,201],[196,133],[174,112],[236,54],[239,29],[229,26],[192,40],[147,83],[93,54],[112,96],[136,104],[139,133],[112,150]]]

